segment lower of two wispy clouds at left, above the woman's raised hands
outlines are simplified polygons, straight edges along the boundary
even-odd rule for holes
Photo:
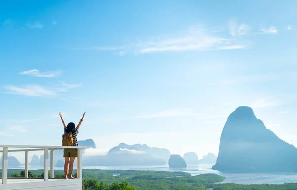
[[[61,83],[56,87],[43,87],[36,84],[28,84],[22,87],[13,85],[6,85],[4,89],[7,90],[6,94],[26,95],[26,96],[56,96],[60,92],[67,92],[69,89],[80,87],[81,85],[68,85]]]

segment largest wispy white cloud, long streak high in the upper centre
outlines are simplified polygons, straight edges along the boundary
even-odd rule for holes
[[[248,26],[241,24],[236,30],[236,35],[244,35],[247,33]],[[235,34],[234,34],[235,35]],[[114,47],[88,47],[79,48],[85,50],[119,50],[119,55],[134,53],[154,53],[169,51],[201,51],[201,50],[227,50],[227,49],[243,49],[248,44],[237,38],[225,38],[223,35],[213,33],[203,27],[190,27],[188,32],[183,35],[172,37],[155,37],[149,40],[139,40],[125,46]],[[170,36],[170,35],[169,35]]]

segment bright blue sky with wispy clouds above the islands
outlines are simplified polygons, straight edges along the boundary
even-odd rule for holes
[[[100,151],[120,142],[218,153],[251,106],[297,145],[297,1],[3,0],[0,144],[60,145],[62,125]]]

